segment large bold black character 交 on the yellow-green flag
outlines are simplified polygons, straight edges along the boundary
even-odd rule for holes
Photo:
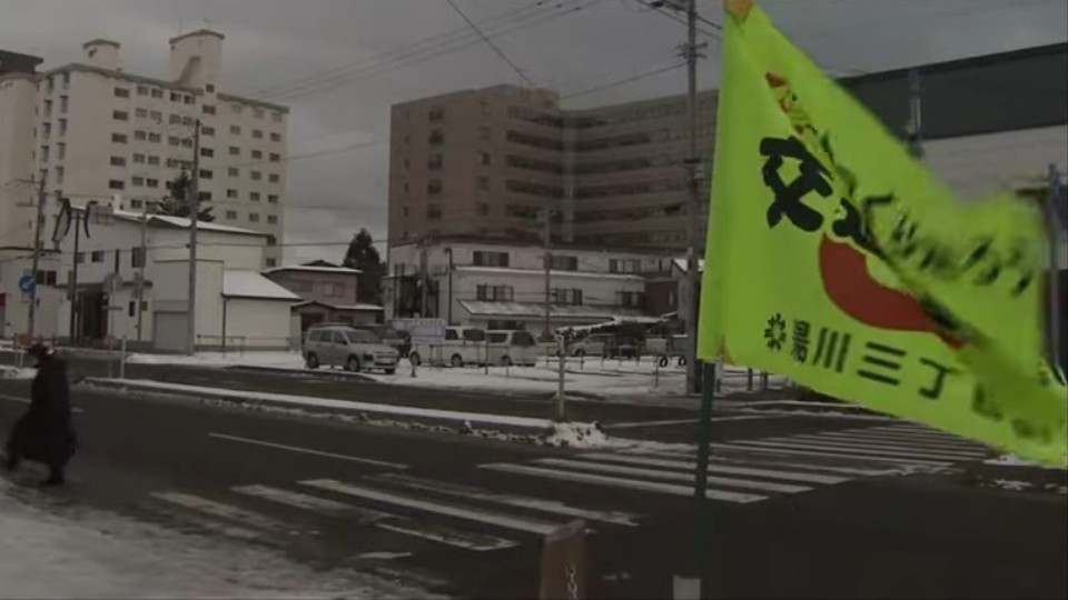
[[[774,201],[768,208],[768,227],[779,224],[783,214],[804,231],[818,231],[823,227],[823,214],[801,200],[813,191],[823,198],[831,194],[831,183],[828,180],[830,173],[827,168],[794,137],[764,138],[760,140],[760,153],[768,157],[762,170],[764,184],[775,194]],[[800,162],[800,174],[789,184],[779,174],[785,157]]]

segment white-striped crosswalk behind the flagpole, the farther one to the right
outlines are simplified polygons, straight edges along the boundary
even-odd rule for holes
[[[752,503],[812,491],[861,477],[906,474],[980,460],[991,451],[978,443],[911,423],[894,423],[710,443],[708,498]],[[482,469],[600,488],[666,496],[693,494],[696,448],[655,446],[523,463],[494,462]]]

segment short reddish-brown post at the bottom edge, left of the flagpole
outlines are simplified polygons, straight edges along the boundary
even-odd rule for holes
[[[578,600],[586,590],[586,523],[572,521],[542,540],[541,600]]]

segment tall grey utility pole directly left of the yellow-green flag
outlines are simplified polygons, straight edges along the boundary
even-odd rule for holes
[[[698,147],[698,59],[701,58],[698,44],[698,0],[686,1],[686,46],[683,53],[686,59],[686,113],[689,118],[689,147],[686,148],[686,174],[689,176],[689,202],[686,210],[686,391],[696,393],[701,382],[698,364],[698,289],[701,273],[699,251],[701,248],[701,181],[699,178],[701,156]]]

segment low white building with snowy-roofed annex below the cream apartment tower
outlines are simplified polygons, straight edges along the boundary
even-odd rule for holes
[[[78,217],[86,209],[75,209],[70,231],[43,254],[37,333],[90,344],[126,339],[131,348],[185,351],[190,222],[146,218],[117,206],[91,210],[88,228]],[[82,227],[78,236],[76,227]],[[260,273],[268,234],[215,223],[198,228],[197,346],[288,348],[290,309],[300,298]],[[0,250],[0,314],[8,336],[27,331],[29,296],[21,293],[18,280],[30,272],[24,251]]]

